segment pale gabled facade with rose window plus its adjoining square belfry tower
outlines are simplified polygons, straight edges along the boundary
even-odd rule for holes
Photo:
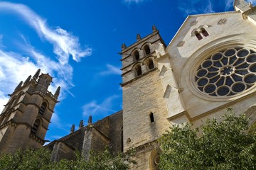
[[[122,45],[124,152],[132,169],[157,169],[156,140],[173,124],[220,118],[227,108],[256,125],[256,7],[191,15],[166,47],[153,33]]]

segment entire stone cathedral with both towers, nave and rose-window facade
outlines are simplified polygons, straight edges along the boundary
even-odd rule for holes
[[[137,42],[122,45],[123,110],[54,140],[52,159],[85,158],[106,146],[112,153],[136,150],[132,169],[157,169],[157,140],[174,124],[219,118],[226,108],[256,122],[256,7],[234,1],[234,11],[186,18],[166,45],[156,26]],[[38,148],[46,142],[60,88],[40,70],[18,84],[0,115],[0,152]]]

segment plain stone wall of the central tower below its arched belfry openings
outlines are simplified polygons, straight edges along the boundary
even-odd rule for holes
[[[163,96],[158,69],[123,86],[124,152],[158,139],[169,128]]]

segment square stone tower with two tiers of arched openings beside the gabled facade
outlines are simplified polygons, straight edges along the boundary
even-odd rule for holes
[[[123,44],[121,52],[124,152],[129,147],[137,150],[139,159],[133,169],[149,169],[148,155],[153,152],[152,159],[155,159],[156,140],[169,128],[158,69],[166,45],[159,30],[155,26],[152,30],[145,38],[138,34],[137,42],[129,47]],[[151,166],[155,166],[154,162]]]

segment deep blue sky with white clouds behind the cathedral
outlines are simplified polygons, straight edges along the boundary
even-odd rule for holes
[[[0,1],[0,110],[40,68],[54,77],[50,91],[62,88],[46,140],[68,135],[89,115],[122,110],[122,43],[155,25],[168,45],[188,15],[230,10],[233,0]]]

